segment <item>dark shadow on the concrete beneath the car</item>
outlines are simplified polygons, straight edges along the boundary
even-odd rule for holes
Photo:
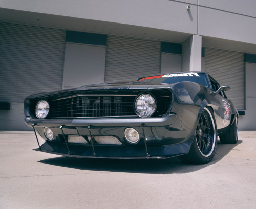
[[[88,171],[147,173],[147,174],[172,174],[190,173],[207,166],[214,165],[225,157],[237,144],[221,144],[218,141],[217,152],[214,159],[208,164],[197,165],[183,162],[180,157],[169,159],[100,159],[100,158],[73,158],[54,157],[40,160],[39,162],[54,166],[68,167]]]

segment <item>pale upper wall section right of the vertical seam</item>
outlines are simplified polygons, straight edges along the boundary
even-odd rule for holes
[[[226,7],[228,5],[234,7],[233,5],[238,1],[225,2],[229,2],[229,4],[226,3]],[[246,1],[240,2],[241,4],[242,2],[244,5],[246,4]],[[212,1],[209,5],[213,6],[213,4],[217,5],[216,1]],[[250,9],[248,9],[249,6],[251,7]],[[219,6],[218,8],[226,9],[226,7]],[[226,12],[215,8],[199,7],[198,35],[256,44],[256,18],[248,16],[252,11],[254,15],[256,14],[256,1],[251,1],[251,4],[248,4],[247,7],[248,13],[246,15]],[[245,9],[240,10],[237,8],[236,11],[244,13]]]

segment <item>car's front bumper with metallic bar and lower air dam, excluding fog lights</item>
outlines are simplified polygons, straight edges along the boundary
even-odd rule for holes
[[[52,129],[59,140],[48,141],[39,145],[36,151],[71,157],[98,158],[168,158],[189,152],[194,135],[177,126],[176,114],[161,118],[113,118],[113,119],[51,119],[38,120],[25,118],[27,125],[32,126],[42,138],[44,127]],[[89,128],[90,127],[90,128]],[[140,134],[137,144],[125,140],[124,130],[135,128]],[[68,143],[68,135],[81,136],[115,136],[122,145],[74,144]],[[37,137],[37,136],[36,136]]]

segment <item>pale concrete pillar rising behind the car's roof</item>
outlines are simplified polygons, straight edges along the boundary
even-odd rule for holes
[[[193,35],[182,44],[182,71],[202,71],[202,36]]]

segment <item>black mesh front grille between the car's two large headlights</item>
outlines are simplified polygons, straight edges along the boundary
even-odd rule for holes
[[[136,96],[75,96],[53,101],[53,118],[115,117],[136,115]]]

